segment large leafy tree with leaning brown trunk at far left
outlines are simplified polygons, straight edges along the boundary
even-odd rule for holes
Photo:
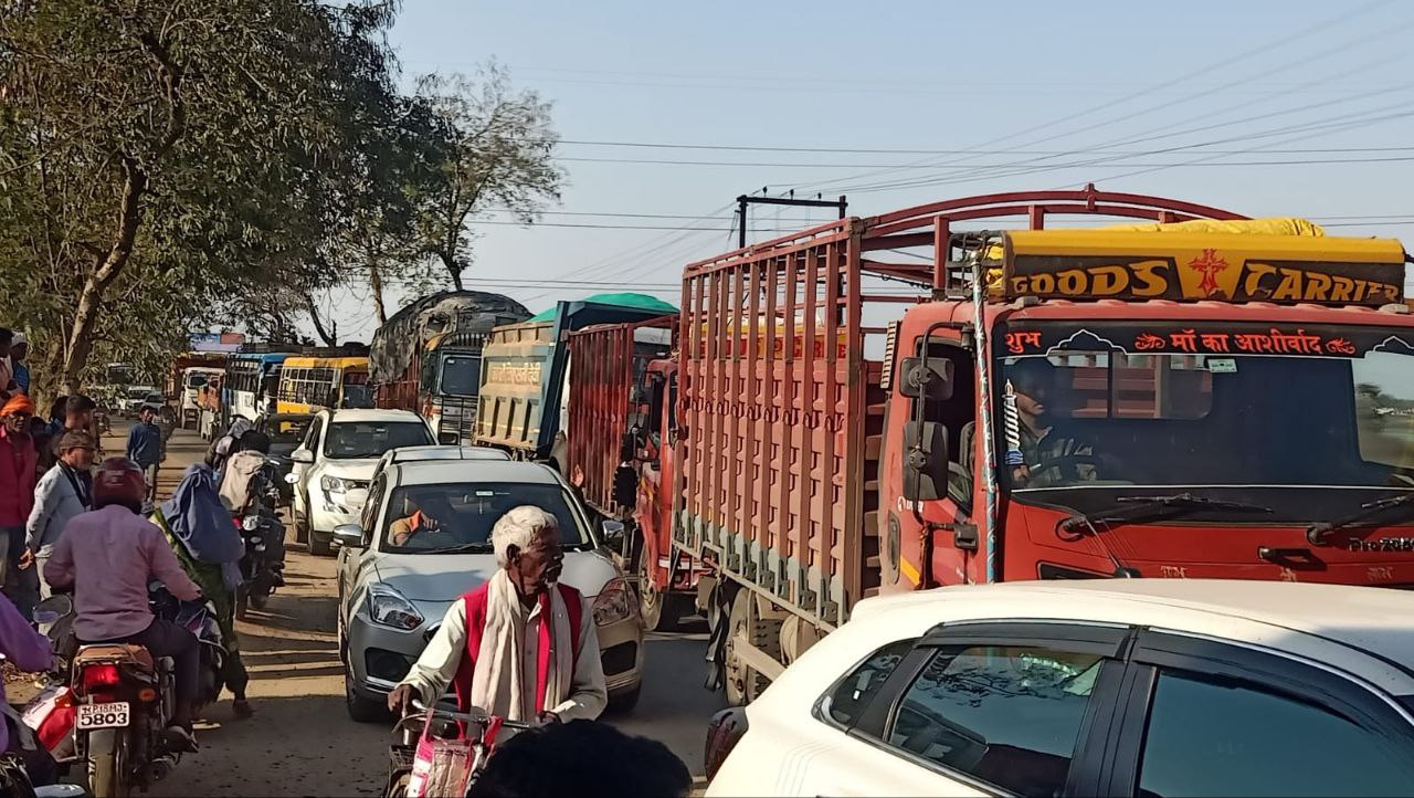
[[[402,99],[393,3],[44,0],[0,11],[0,313],[75,391],[284,286],[334,243]],[[120,357],[134,352],[133,358]]]

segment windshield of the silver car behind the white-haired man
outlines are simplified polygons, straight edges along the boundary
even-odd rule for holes
[[[506,511],[534,505],[556,518],[566,548],[584,548],[590,536],[559,484],[443,482],[393,491],[380,535],[383,550],[404,553],[491,552],[491,528]]]

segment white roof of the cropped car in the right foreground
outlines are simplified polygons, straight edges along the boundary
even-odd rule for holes
[[[853,621],[922,634],[945,623],[1046,620],[1145,625],[1311,657],[1414,692],[1414,594],[1396,589],[1213,579],[954,586],[868,598]]]

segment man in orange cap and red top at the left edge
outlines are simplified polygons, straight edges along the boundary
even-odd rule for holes
[[[38,451],[30,437],[34,402],[13,393],[0,407],[0,533],[6,536],[4,593],[24,617],[40,600],[35,570],[20,569],[24,555],[24,525],[34,509],[34,485],[38,481]]]

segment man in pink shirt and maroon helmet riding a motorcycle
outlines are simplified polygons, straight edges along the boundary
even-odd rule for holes
[[[44,577],[55,589],[74,589],[74,632],[85,644],[126,642],[175,665],[177,702],[168,744],[195,751],[191,720],[199,689],[197,637],[153,615],[147,586],[161,582],[182,601],[201,589],[187,577],[161,531],[140,515],[147,495],[143,470],[126,457],[103,461],[93,477],[93,509],[69,521],[54,546]]]

